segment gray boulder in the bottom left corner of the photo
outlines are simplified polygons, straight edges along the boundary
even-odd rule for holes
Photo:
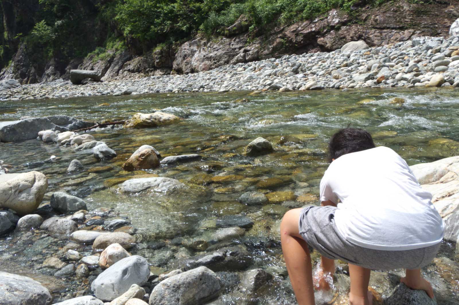
[[[1,305],[48,305],[53,298],[48,289],[30,277],[0,271]]]

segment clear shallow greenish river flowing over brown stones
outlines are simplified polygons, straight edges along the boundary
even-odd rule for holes
[[[133,130],[118,125],[90,131],[96,140],[105,141],[118,153],[109,161],[96,162],[91,154],[37,140],[0,144],[0,159],[14,166],[11,172],[38,170],[47,175],[49,193],[45,201],[52,192],[65,190],[84,198],[88,209],[109,207],[128,218],[138,229],[140,243],[135,252],[160,271],[171,268],[178,252],[197,253],[193,247],[181,249],[177,246],[180,241],[191,244],[207,240],[215,232],[216,219],[222,215],[247,215],[254,221],[253,227],[246,230],[244,237],[225,243],[243,244],[253,258],[250,268],[271,268],[279,274],[274,278],[279,285],[256,296],[260,304],[294,304],[288,279],[283,277],[285,265],[278,226],[287,209],[318,204],[319,181],[329,164],[327,141],[336,130],[349,124],[364,128],[373,135],[377,146],[391,147],[409,165],[459,155],[459,90],[321,90],[257,96],[248,93],[2,102],[1,121],[66,114],[100,122],[160,109],[183,120],[160,128]],[[401,97],[405,102],[391,104],[393,97]],[[110,106],[100,106],[102,103]],[[244,147],[258,136],[273,143],[274,153],[257,158],[243,156]],[[202,159],[152,170],[123,171],[123,162],[145,144],[154,146],[162,157],[198,153]],[[55,162],[43,162],[51,155],[57,157]],[[73,159],[79,159],[88,170],[67,174]],[[178,179],[190,186],[190,192],[187,196],[118,193],[118,183],[145,174]],[[243,193],[256,191],[269,194],[269,202],[246,205],[238,201]],[[45,251],[40,248],[32,253],[17,253],[11,244],[14,238],[13,234],[0,239],[0,270],[27,267],[29,272],[40,273],[30,271],[34,268],[30,260],[40,261],[39,256],[45,255]],[[166,241],[167,246],[155,250],[148,246],[158,241]],[[209,247],[217,248],[218,245]],[[445,256],[454,260],[452,245],[443,245],[439,257]],[[9,262],[16,267],[8,268]],[[457,259],[448,260],[448,264],[453,264],[453,269],[459,267]],[[436,268],[439,267],[433,267],[431,272],[441,273]],[[436,277],[430,276],[435,284]],[[382,282],[374,285],[385,285]],[[455,300],[459,282],[455,278],[446,283],[448,287],[442,288],[446,294],[439,303],[458,304]],[[341,284],[338,281],[336,285],[339,288]],[[381,294],[388,293],[390,289],[381,288]],[[220,301],[224,302],[224,298]],[[226,304],[231,302],[227,300]]]

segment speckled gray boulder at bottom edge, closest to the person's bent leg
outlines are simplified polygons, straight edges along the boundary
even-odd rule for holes
[[[169,277],[151,292],[150,305],[199,305],[215,299],[222,288],[220,279],[206,267]]]

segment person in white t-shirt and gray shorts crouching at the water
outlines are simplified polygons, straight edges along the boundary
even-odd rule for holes
[[[401,282],[433,298],[420,269],[436,256],[444,223],[408,164],[370,134],[346,128],[331,137],[330,166],[320,181],[322,206],[288,211],[280,225],[282,251],[299,305],[313,305],[308,245],[321,254],[323,277],[334,260],[349,263],[351,305],[371,305],[370,269],[406,269]]]

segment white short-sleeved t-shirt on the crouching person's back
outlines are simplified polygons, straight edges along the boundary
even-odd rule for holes
[[[388,147],[342,155],[320,181],[320,200],[338,203],[338,231],[369,249],[409,250],[441,242],[445,225],[431,199]]]

